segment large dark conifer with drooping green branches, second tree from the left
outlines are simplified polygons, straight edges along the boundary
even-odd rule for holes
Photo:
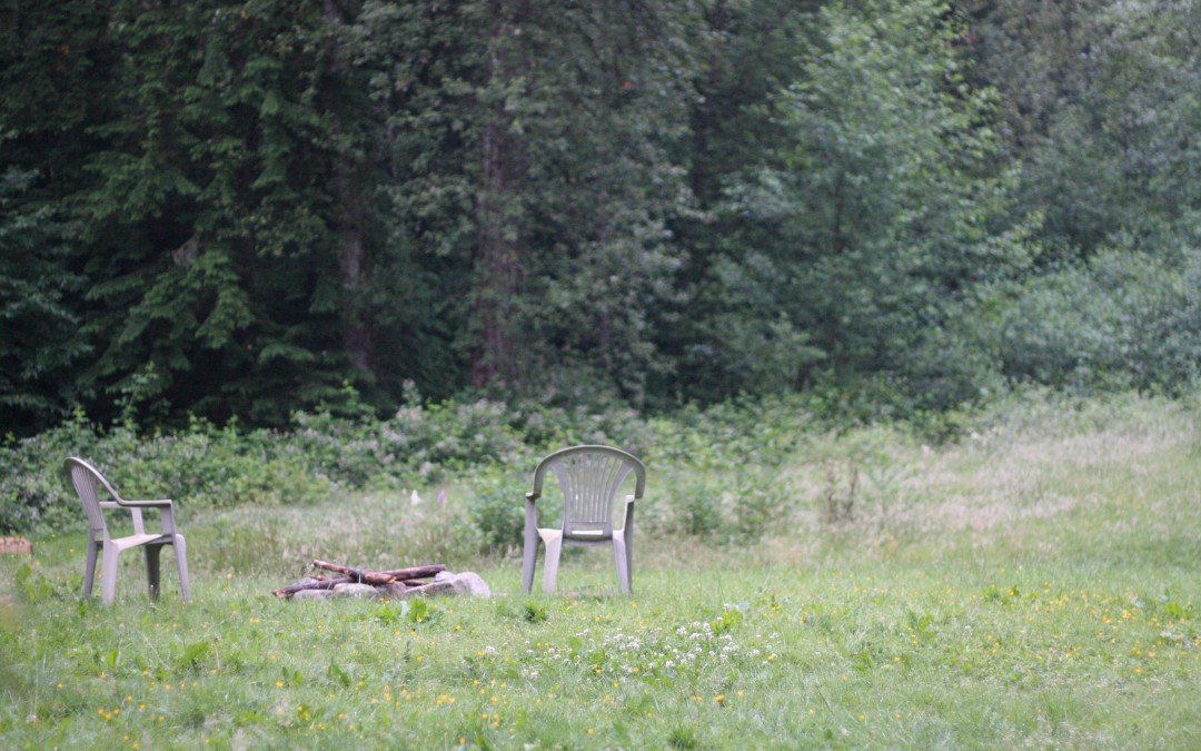
[[[115,8],[115,114],[83,195],[106,393],[280,423],[369,377],[341,25],[317,1]]]

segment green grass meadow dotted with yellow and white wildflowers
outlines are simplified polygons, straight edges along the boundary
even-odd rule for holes
[[[0,559],[0,746],[1201,747],[1199,437],[1190,405],[1137,398],[943,448],[814,434],[767,537],[641,534],[632,597],[598,550],[525,596],[516,558],[406,497],[180,500],[190,604],[169,568],[150,603],[130,554],[116,604],[82,602],[82,534]],[[270,595],[313,558],[497,596]]]

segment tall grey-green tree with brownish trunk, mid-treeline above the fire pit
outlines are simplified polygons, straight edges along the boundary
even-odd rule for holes
[[[665,222],[689,201],[667,153],[687,132],[683,12],[365,6],[393,255],[455,270],[442,297],[470,385],[545,391],[582,368],[641,397],[657,364],[647,320],[677,264]]]

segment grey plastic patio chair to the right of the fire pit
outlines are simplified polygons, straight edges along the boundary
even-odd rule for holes
[[[563,491],[563,523],[560,528],[539,528],[537,501],[546,470],[555,472]],[[613,511],[622,482],[634,473],[634,494],[627,495],[622,508],[622,526],[614,529]],[[555,591],[558,558],[567,546],[611,544],[617,564],[617,588],[631,591],[634,561],[634,501],[643,497],[646,467],[633,455],[609,446],[574,446],[557,451],[538,464],[533,491],[526,494],[525,562],[521,586],[533,586],[538,541],[546,546],[542,589]]]

